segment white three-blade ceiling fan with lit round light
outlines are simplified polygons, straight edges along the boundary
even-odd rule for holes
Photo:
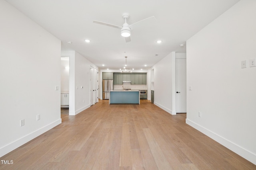
[[[121,35],[125,38],[125,41],[126,41],[126,43],[127,43],[127,42],[130,42],[130,41],[131,41],[131,37],[130,37],[130,35],[131,35],[131,30],[132,30],[131,27],[130,27],[131,25],[134,25],[134,24],[136,24],[136,23],[138,23],[138,22],[147,20],[147,19],[149,19],[149,18],[155,18],[155,17],[154,17],[154,16],[151,16],[151,17],[148,17],[148,18],[146,18],[146,19],[144,19],[144,20],[140,20],[140,21],[135,22],[135,23],[130,24],[130,25],[126,22],[126,20],[129,18],[129,14],[128,14],[128,13],[124,13],[124,14],[123,14],[123,18],[124,18],[124,20],[125,20],[123,26],[117,26],[117,25],[113,25],[113,24],[105,23],[105,22],[101,22],[101,21],[96,21],[96,20],[93,20],[93,23],[98,23],[98,24],[101,24],[101,25],[106,25],[106,26],[109,26],[109,27],[114,27],[114,28],[121,29]],[[155,18],[155,19],[156,19],[156,18]]]

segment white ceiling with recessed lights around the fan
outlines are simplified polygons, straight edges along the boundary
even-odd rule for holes
[[[239,0],[6,1],[60,39],[62,50],[75,50],[100,69],[122,68],[127,56],[127,67],[138,70],[150,68],[172,51],[186,53],[186,40]],[[128,43],[120,35],[120,29],[92,22],[122,26],[123,13],[130,14],[129,24],[150,16],[156,20],[134,24],[132,41]],[[157,44],[157,40],[162,43]]]

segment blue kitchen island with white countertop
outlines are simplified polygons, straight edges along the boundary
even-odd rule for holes
[[[140,91],[139,90],[110,91],[109,104],[140,104]]]

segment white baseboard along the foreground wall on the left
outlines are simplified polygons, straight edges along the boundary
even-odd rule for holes
[[[20,139],[0,148],[0,157],[4,156],[5,154],[11,152],[12,150],[20,147],[21,145],[24,145],[28,141],[31,141],[32,139],[38,137],[39,135],[42,135],[44,132],[54,128],[55,126],[59,125],[61,123],[61,119],[58,119],[49,125],[46,125],[24,137],[21,137]]]

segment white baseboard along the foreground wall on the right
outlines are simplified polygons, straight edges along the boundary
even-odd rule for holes
[[[216,133],[198,125],[197,123],[194,123],[193,121],[190,121],[189,119],[186,119],[186,123],[188,125],[194,127],[195,129],[197,129],[198,131],[204,133],[208,137],[212,138],[214,141],[217,141],[218,143],[220,143],[224,147],[232,150],[236,154],[239,154],[240,156],[242,156],[243,158],[252,162],[253,164],[256,164],[256,154],[250,152],[249,150],[246,150],[246,149],[240,147],[239,145],[236,145],[235,143],[233,143],[233,142],[225,139],[224,137],[221,137],[220,135],[218,135],[218,134],[216,134]]]

